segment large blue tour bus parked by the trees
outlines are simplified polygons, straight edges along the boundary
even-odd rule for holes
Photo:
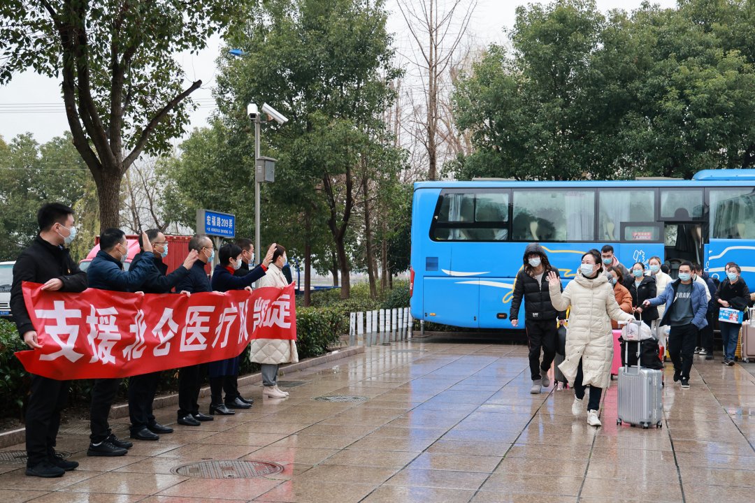
[[[513,282],[533,241],[547,250],[564,284],[582,253],[612,244],[627,268],[660,256],[673,278],[683,260],[722,279],[726,262],[737,262],[753,289],[755,170],[704,170],[691,180],[417,182],[412,316],[512,328]]]

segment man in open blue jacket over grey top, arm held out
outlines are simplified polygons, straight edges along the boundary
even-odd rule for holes
[[[707,296],[705,287],[692,281],[692,262],[684,261],[679,266],[679,278],[669,283],[661,295],[647,299],[643,305],[666,305],[661,327],[671,327],[668,335],[668,354],[673,361],[673,381],[682,381],[682,388],[689,388],[689,372],[695,354],[698,330],[707,325]]]

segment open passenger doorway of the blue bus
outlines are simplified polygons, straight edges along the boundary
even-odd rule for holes
[[[679,265],[689,260],[704,264],[703,189],[669,188],[660,191],[659,221],[663,225],[664,261],[671,278]]]

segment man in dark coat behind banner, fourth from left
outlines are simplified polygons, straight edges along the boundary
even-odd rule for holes
[[[210,279],[205,265],[212,263],[215,247],[212,240],[204,234],[194,235],[189,241],[189,250],[196,250],[197,260],[186,275],[176,285],[176,290],[201,293],[211,292]],[[212,421],[213,417],[199,412],[199,390],[202,388],[200,365],[181,367],[178,370],[178,424],[199,426],[202,421]]]

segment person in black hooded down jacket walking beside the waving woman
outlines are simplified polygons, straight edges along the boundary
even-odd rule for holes
[[[532,374],[530,393],[540,393],[541,388],[550,386],[548,370],[556,357],[556,330],[558,319],[565,314],[556,311],[550,303],[548,291],[548,273],[559,274],[548,262],[545,250],[538,243],[528,244],[522,259],[524,265],[516,274],[514,281],[511,311],[509,314],[513,327],[519,326],[519,305],[524,299],[525,329],[529,344],[529,372]],[[543,362],[540,363],[540,351]]]

